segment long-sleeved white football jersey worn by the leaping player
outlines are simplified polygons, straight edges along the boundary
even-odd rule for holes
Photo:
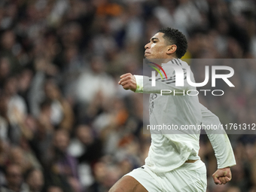
[[[175,86],[175,66],[184,71],[182,87]],[[188,72],[190,80],[194,82],[194,75],[190,72],[187,62],[172,59],[162,67],[167,79],[157,75],[155,87],[151,86],[151,78],[134,75],[137,83],[136,93],[151,93],[149,101],[151,147],[145,165],[154,172],[168,172],[178,168],[186,160],[200,159],[198,156],[200,130],[197,126],[201,123],[219,123],[218,117],[200,104],[198,96],[187,95],[190,91],[196,90],[196,87],[187,84]],[[163,93],[161,90],[168,90],[166,93],[169,94],[161,95]],[[186,130],[189,125],[194,125],[196,129]],[[218,168],[236,164],[229,139],[224,130],[222,133],[212,134],[209,131]]]

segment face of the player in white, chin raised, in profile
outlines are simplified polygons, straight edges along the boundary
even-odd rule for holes
[[[157,32],[148,44],[145,45],[145,58],[147,59],[166,59],[167,45],[163,38],[163,32]]]

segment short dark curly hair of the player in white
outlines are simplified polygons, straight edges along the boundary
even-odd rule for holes
[[[187,39],[182,32],[170,27],[161,28],[158,32],[164,33],[163,38],[166,40],[167,44],[175,44],[177,46],[176,56],[178,58],[184,56],[187,52]]]

